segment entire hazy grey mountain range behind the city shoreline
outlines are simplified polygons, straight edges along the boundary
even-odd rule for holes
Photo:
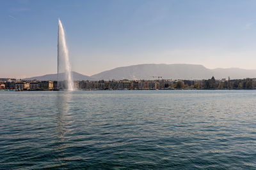
[[[59,74],[60,79],[63,74]],[[163,79],[201,80],[214,76],[216,79],[255,78],[256,69],[217,68],[207,69],[197,64],[139,64],[134,66],[116,67],[92,76],[72,71],[74,80],[152,80],[161,76]],[[46,74],[24,78],[23,80],[57,80],[57,74]]]

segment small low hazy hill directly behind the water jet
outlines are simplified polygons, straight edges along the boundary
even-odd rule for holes
[[[59,74],[59,79],[63,80],[64,74]],[[83,74],[72,71],[72,77],[74,80],[93,80],[90,76],[84,76]],[[44,76],[36,76],[31,78],[24,78],[23,80],[57,80],[57,74],[46,74]]]

